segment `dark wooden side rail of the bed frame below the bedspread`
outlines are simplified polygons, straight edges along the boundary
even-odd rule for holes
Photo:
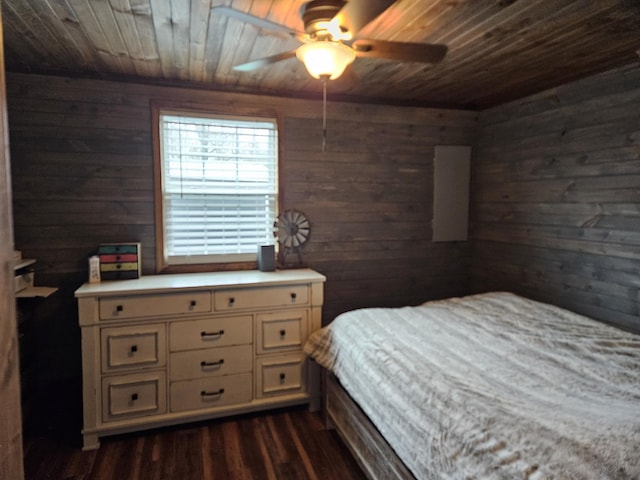
[[[338,379],[326,370],[323,379],[327,426],[337,430],[367,478],[415,480]]]

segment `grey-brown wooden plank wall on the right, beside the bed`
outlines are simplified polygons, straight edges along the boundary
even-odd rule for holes
[[[640,65],[484,111],[473,289],[640,330]]]

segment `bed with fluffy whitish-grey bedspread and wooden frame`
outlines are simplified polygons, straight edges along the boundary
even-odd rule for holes
[[[493,292],[347,312],[305,351],[370,478],[640,478],[640,335]]]

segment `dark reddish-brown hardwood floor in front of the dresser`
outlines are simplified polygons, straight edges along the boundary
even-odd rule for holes
[[[364,474],[321,413],[306,408],[217,419],[102,439],[28,433],[26,480],[326,480]]]

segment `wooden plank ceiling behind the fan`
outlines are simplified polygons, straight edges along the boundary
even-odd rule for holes
[[[368,1],[368,0],[351,0]],[[302,0],[2,0],[9,71],[188,82],[318,97],[321,82],[290,58],[297,40],[220,15],[226,5],[304,30]],[[399,0],[361,37],[445,44],[436,65],[358,58],[329,85],[336,99],[486,108],[638,62],[638,0]]]

